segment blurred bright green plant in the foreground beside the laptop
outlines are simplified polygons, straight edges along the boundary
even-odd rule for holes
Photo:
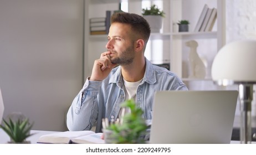
[[[145,143],[147,125],[142,118],[144,111],[136,106],[134,100],[125,101],[121,107],[130,108],[130,112],[121,116],[121,122],[111,123],[104,130],[106,143]]]

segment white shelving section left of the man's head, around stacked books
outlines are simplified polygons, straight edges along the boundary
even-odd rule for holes
[[[84,80],[90,76],[94,60],[106,51],[107,35],[90,35],[89,19],[106,17],[107,10],[117,10],[119,0],[85,0],[84,1]]]

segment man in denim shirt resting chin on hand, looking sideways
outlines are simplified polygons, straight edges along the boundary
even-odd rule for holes
[[[149,37],[150,26],[143,17],[125,12],[111,17],[107,51],[95,60],[91,76],[69,108],[70,131],[90,130],[96,123],[96,132],[101,132],[102,118],[116,120],[127,99],[134,99],[143,117],[151,120],[155,91],[187,90],[175,74],[145,58]]]

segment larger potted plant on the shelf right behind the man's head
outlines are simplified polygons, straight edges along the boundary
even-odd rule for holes
[[[161,11],[155,4],[150,9],[142,9],[142,16],[150,25],[151,32],[159,33],[162,28],[162,20],[165,17],[165,12]]]

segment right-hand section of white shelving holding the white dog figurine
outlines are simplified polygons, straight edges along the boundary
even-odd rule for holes
[[[217,21],[214,25],[212,32],[193,32],[194,27],[199,18],[204,4],[209,8],[217,8]],[[225,44],[225,14],[224,14],[225,1],[212,0],[212,1],[188,1],[188,0],[171,0],[171,18],[172,22],[177,22],[181,19],[190,20],[189,32],[171,32],[170,39],[170,62],[171,70],[183,80],[192,81],[188,79],[189,69],[187,64],[188,51],[190,50],[185,42],[188,40],[196,40],[198,42],[197,53],[207,61],[207,75],[205,79],[211,79],[211,64],[217,51]],[[193,9],[198,6],[197,9]],[[173,30],[171,24],[171,30]],[[196,79],[198,80],[198,79]]]

